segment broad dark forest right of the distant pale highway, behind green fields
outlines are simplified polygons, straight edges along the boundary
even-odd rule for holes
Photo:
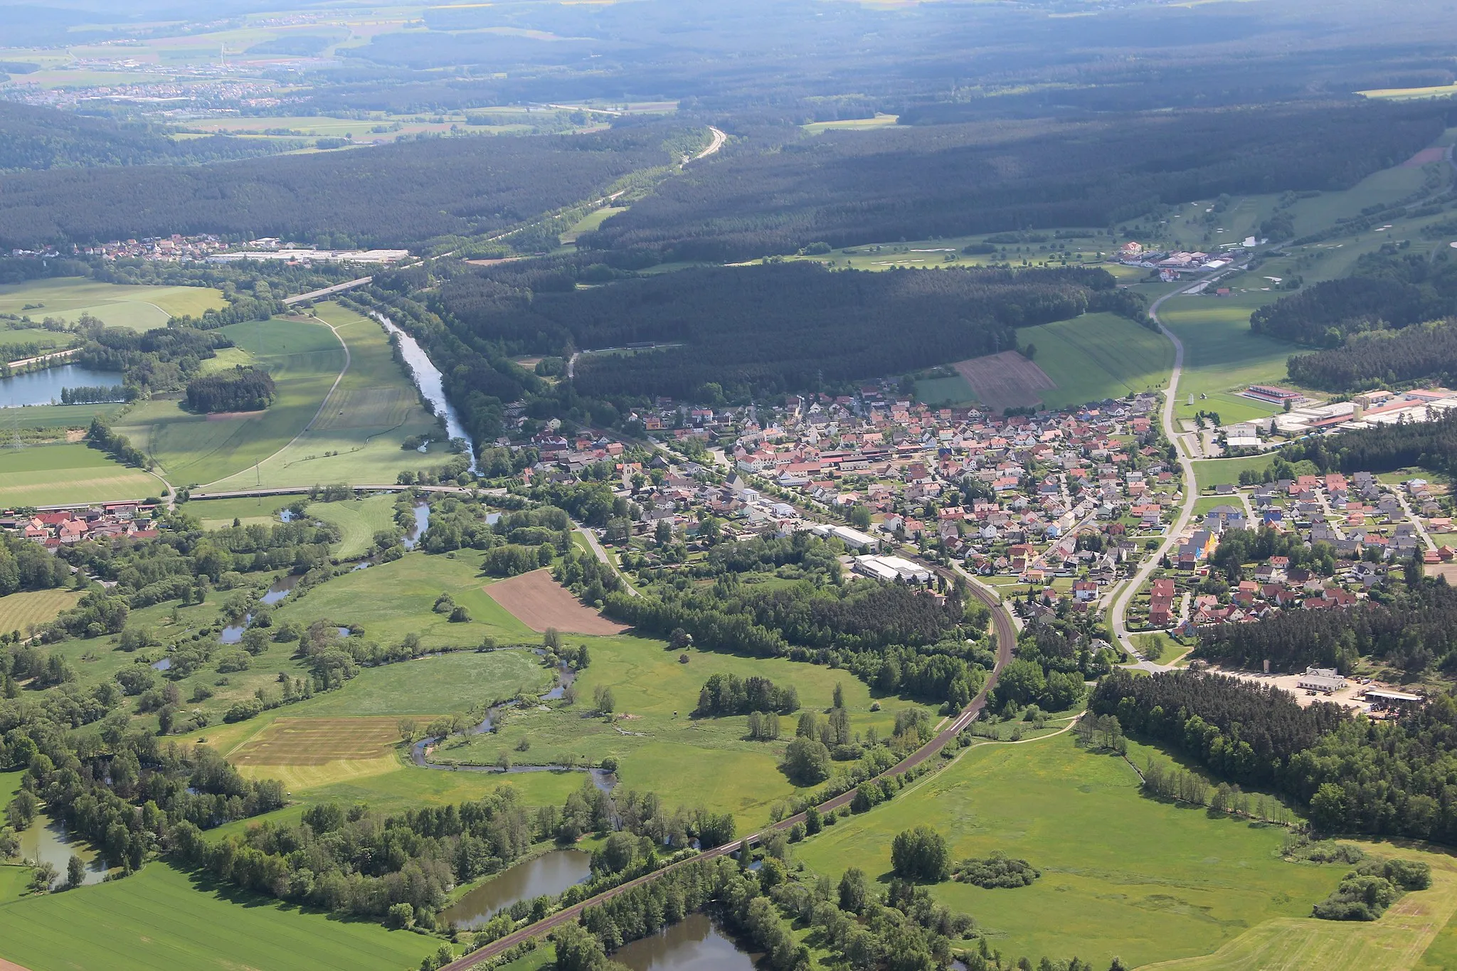
[[[742,261],[1056,226],[1106,227],[1221,192],[1340,189],[1396,165],[1448,106],[1281,106],[1107,121],[900,125],[747,140],[609,218],[578,246]]]

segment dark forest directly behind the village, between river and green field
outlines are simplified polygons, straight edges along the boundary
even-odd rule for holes
[[[832,272],[816,263],[685,269],[577,290],[567,269],[463,275],[431,307],[462,339],[565,354],[632,344],[686,346],[586,357],[574,387],[594,397],[782,392],[1017,346],[1016,328],[1125,309],[1101,269]],[[1136,310],[1132,310],[1136,313]],[[898,320],[887,329],[887,319]]]

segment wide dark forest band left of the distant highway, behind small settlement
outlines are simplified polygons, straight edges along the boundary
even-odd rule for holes
[[[128,236],[287,236],[412,246],[593,198],[669,162],[661,125],[541,138],[428,138],[208,166],[58,169],[0,178],[0,246]]]

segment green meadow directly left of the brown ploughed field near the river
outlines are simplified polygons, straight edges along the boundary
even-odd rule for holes
[[[399,643],[407,633],[420,635],[427,648],[475,646],[487,635],[503,643],[541,641],[541,636],[504,607],[485,595],[479,572],[481,555],[472,550],[427,556],[407,553],[390,563],[356,571],[293,598],[275,611],[280,620],[309,625],[332,620],[363,629],[379,643]],[[450,623],[433,613],[436,598],[447,592],[471,613],[466,623]]]

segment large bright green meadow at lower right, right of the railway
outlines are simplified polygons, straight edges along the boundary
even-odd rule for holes
[[[1147,799],[1126,761],[1080,750],[1071,732],[975,747],[911,793],[826,828],[796,855],[832,879],[848,866],[886,879],[890,840],[916,824],[943,833],[953,859],[1002,850],[1042,871],[1018,889],[931,888],[951,908],[975,914],[1004,955],[1033,962],[1077,955],[1107,967],[1119,955],[1139,967],[1206,955],[1266,922],[1304,917],[1348,869],[1281,860],[1281,827]],[[1330,932],[1358,933],[1349,924]]]

